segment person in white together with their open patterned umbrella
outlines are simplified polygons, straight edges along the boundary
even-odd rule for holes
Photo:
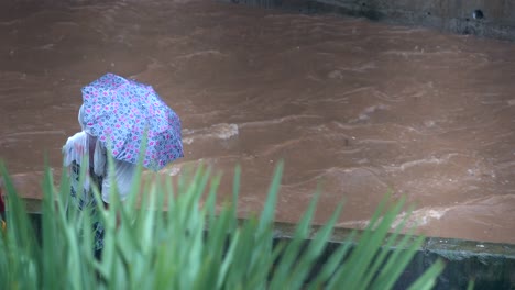
[[[72,167],[78,182],[77,165],[83,163],[84,154],[89,156],[89,179],[99,187],[106,207],[110,192],[117,192],[121,201],[128,197],[145,134],[144,167],[160,170],[184,156],[180,120],[151,86],[107,74],[84,87],[81,92],[84,104],[78,119],[83,132],[68,138],[63,149],[65,166]],[[113,178],[107,165],[108,152],[113,156]],[[85,182],[88,198],[91,197],[89,179]],[[116,191],[111,190],[112,180]],[[74,192],[76,196],[77,189],[72,188],[72,196]],[[80,200],[78,205],[80,209]],[[101,224],[94,227],[97,233],[102,232]]]

